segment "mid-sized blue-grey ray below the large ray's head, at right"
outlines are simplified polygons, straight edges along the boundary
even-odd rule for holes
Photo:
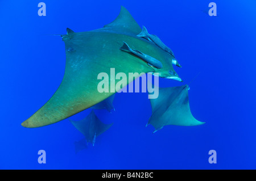
[[[148,120],[155,131],[166,125],[195,126],[204,124],[193,117],[188,102],[188,85],[159,87],[159,96],[150,99],[152,115]],[[146,127],[147,127],[146,125]]]

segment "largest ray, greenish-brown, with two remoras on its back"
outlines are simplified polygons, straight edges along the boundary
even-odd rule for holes
[[[141,31],[125,7],[121,7],[118,17],[104,28],[77,33],[67,29],[67,35],[62,36],[66,52],[63,81],[51,99],[22,126],[36,128],[56,123],[113,95],[120,89],[110,86],[109,92],[100,93],[97,90],[100,82],[98,74],[104,72],[110,75],[110,68],[115,68],[115,74],[154,72],[160,77],[181,81],[172,67],[174,57],[153,41],[137,36]],[[119,49],[123,42],[139,55],[143,52],[143,55],[154,57],[153,63],[160,61],[161,68],[150,66],[142,58]],[[129,77],[127,83],[133,80]]]

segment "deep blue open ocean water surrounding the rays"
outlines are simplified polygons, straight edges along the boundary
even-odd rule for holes
[[[256,1],[0,1],[0,169],[256,169]],[[184,82],[160,78],[159,86],[190,84],[197,127],[166,126],[152,134],[146,93],[121,93],[115,112],[96,110],[114,123],[94,147],[75,154],[83,135],[68,121],[42,128],[20,124],[59,87],[65,70],[64,42],[52,34],[90,31],[130,11],[170,47],[183,66]],[[72,116],[83,119],[90,110]],[[46,163],[38,163],[38,150]],[[210,164],[209,150],[217,163]]]

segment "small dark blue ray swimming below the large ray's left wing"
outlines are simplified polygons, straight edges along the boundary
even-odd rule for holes
[[[113,125],[113,123],[102,123],[95,115],[94,111],[91,111],[89,115],[85,117],[85,119],[82,119],[80,121],[70,121],[73,124],[73,126],[76,127],[76,129],[78,129],[78,131],[84,134],[86,142],[92,143],[93,146],[95,144],[96,137],[107,131]]]

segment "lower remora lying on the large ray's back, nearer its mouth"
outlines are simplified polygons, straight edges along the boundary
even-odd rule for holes
[[[149,65],[149,66],[154,66],[157,69],[160,69],[160,68],[163,67],[163,64],[159,60],[156,60],[155,58],[153,58],[153,57],[151,57],[147,54],[144,54],[144,53],[140,52],[139,50],[131,49],[129,47],[129,45],[127,45],[127,43],[125,43],[125,41],[123,41],[123,46],[119,49],[121,49],[125,52],[129,52],[129,53],[134,54],[135,56],[137,56],[137,57],[141,58],[142,60],[146,61],[147,65]]]

